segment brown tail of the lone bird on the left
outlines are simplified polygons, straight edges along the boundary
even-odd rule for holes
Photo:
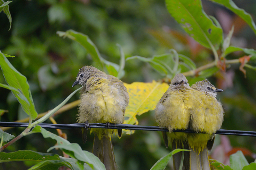
[[[114,147],[107,135],[104,135],[101,140],[96,134],[94,135],[92,153],[103,162],[106,170],[117,170]]]

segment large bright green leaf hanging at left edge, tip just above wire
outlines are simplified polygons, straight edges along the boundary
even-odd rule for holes
[[[4,74],[5,81],[9,86],[13,88],[12,93],[18,99],[22,109],[28,114],[28,116],[34,120],[37,116],[35,105],[31,96],[27,78],[20,74],[12,64],[7,60],[5,55],[0,52],[0,66]],[[3,84],[2,84],[3,85]],[[17,92],[19,91],[19,93]],[[22,95],[24,96],[22,96]]]

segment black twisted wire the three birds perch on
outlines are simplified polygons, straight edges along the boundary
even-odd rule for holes
[[[43,128],[49,129],[75,129],[75,128],[84,128],[84,124],[38,124]],[[28,123],[19,123],[19,122],[0,122],[0,126],[3,127],[28,127]],[[102,123],[90,123],[90,128],[108,128],[107,124]],[[141,126],[134,124],[111,124],[110,129],[125,129],[125,130],[140,130],[140,131],[168,131],[165,128],[159,126]],[[186,132],[186,133],[197,133],[191,129],[186,130],[173,130],[173,132]],[[204,133],[204,132],[199,132]],[[252,136],[256,137],[255,131],[237,131],[237,130],[225,130],[220,129],[215,134],[219,135],[236,135],[236,136]]]

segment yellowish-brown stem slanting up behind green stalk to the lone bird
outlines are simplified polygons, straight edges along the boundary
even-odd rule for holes
[[[65,104],[62,108],[60,108],[60,110],[56,111],[56,112],[52,115],[52,117],[55,117],[55,116],[59,115],[60,113],[63,113],[63,112],[65,112],[65,111],[67,111],[67,110],[70,110],[70,109],[76,107],[79,103],[80,103],[80,100],[76,100],[76,101],[74,101],[74,102]],[[48,111],[46,111],[46,112],[44,112],[44,113],[38,114],[37,117],[36,117],[36,120],[39,119],[39,118],[41,118],[41,117],[43,117],[44,115],[46,115],[49,111],[51,111],[51,110],[48,110]],[[29,117],[24,118],[24,119],[20,119],[20,120],[14,121],[14,122],[25,123],[25,122],[28,122],[28,121],[29,121]],[[11,128],[13,128],[13,127],[1,127],[1,129],[2,129],[3,131],[6,131],[6,130],[11,129]]]

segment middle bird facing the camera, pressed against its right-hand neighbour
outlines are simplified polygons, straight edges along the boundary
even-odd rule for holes
[[[189,127],[191,110],[195,109],[197,101],[195,89],[189,87],[188,80],[183,74],[176,74],[170,87],[164,93],[156,105],[155,115],[160,127],[167,128],[168,132],[162,132],[164,144],[168,148],[169,143],[172,149],[189,149],[187,133],[172,132],[174,129],[186,130]],[[179,169],[182,152],[173,155],[174,169]],[[182,170],[189,169],[189,152],[184,152]]]

